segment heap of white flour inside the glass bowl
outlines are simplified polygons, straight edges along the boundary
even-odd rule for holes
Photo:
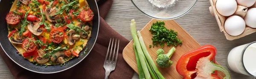
[[[175,4],[176,0],[148,0],[151,4],[158,8],[168,8]]]

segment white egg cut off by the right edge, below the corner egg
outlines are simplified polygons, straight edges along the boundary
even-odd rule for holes
[[[250,8],[245,17],[245,24],[251,28],[256,28],[256,8]]]

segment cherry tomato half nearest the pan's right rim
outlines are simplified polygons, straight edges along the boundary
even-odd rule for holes
[[[93,16],[94,16],[93,11],[90,8],[88,8],[88,10],[87,9],[82,10],[79,14],[79,18],[83,22],[89,22],[93,20]]]

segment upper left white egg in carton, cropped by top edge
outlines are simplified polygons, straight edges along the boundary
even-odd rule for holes
[[[222,16],[230,16],[236,12],[236,0],[217,0],[216,9]]]

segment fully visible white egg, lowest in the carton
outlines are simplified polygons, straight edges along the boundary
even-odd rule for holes
[[[230,16],[224,23],[224,29],[227,34],[231,36],[238,36],[244,32],[244,19],[237,15]]]

